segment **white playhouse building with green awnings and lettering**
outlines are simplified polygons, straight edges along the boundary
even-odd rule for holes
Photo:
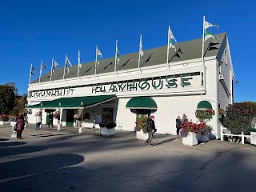
[[[30,83],[28,105],[32,106],[29,122],[42,109],[43,122],[51,110],[62,111],[62,126],[74,126],[74,114],[84,108],[84,126],[92,127],[102,111],[110,110],[122,130],[134,131],[139,114],[154,115],[159,134],[175,134],[175,119],[186,114],[196,122],[195,111],[206,107],[216,112],[208,122],[218,138],[218,108],[233,103],[234,71],[227,34],[217,34],[205,42],[202,64],[202,38],[175,44],[166,63],[167,46],[144,50],[138,70],[138,52],[120,56],[114,73],[115,58],[70,66],[63,80],[63,68],[55,69]],[[199,105],[198,105],[199,104]],[[90,119],[89,119],[90,118]],[[57,120],[54,119],[54,124]]]

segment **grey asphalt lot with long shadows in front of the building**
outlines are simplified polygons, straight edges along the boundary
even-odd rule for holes
[[[158,134],[146,146],[134,132],[34,125],[10,138],[0,126],[1,191],[254,191],[256,147],[210,140],[184,146]],[[156,144],[154,138],[153,143]]]

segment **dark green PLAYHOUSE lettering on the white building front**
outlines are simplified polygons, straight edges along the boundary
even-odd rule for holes
[[[191,86],[190,80],[193,79],[190,74],[180,75],[180,84],[178,85],[178,78],[175,75],[155,78],[142,78],[139,80],[128,80],[122,82],[112,82],[110,85],[105,85],[102,83],[92,86],[91,92],[96,93],[113,93],[113,92],[123,92],[132,90],[161,90],[163,87],[167,88],[177,88],[178,86]]]

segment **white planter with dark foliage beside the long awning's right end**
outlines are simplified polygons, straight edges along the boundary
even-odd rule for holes
[[[102,122],[99,123],[99,126],[101,127],[101,134],[115,134],[115,127],[117,126],[117,124],[113,121],[113,117],[110,111],[105,111],[102,114]]]

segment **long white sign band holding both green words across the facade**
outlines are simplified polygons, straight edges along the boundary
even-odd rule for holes
[[[197,78],[194,78],[197,76]],[[201,82],[200,79],[201,78]],[[196,83],[196,86],[203,86],[203,74],[194,72],[189,74],[174,74],[169,76],[154,77],[154,78],[140,78],[119,82],[102,82],[98,84],[90,84],[77,87],[61,87],[49,90],[32,90],[30,98],[47,98],[59,96],[71,96],[74,90],[78,93],[117,93],[126,91],[139,90],[162,90],[174,89],[177,87],[191,87],[191,83]],[[201,84],[201,85],[200,85]],[[82,90],[81,90],[82,88]]]

